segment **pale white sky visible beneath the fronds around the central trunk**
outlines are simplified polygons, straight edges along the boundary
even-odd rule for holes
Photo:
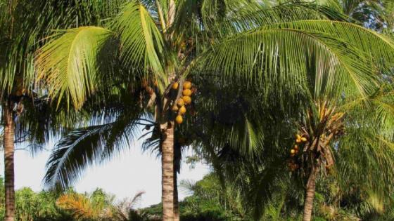
[[[132,198],[139,191],[144,191],[137,208],[144,208],[161,201],[160,159],[148,152],[141,152],[141,141],[126,150],[120,156],[101,165],[88,168],[83,178],[75,183],[77,192],[92,192],[97,187],[115,194],[118,200]],[[18,147],[17,147],[18,148]],[[0,175],[4,177],[4,153],[0,152]],[[45,163],[50,152],[42,152],[34,158],[25,150],[15,152],[15,189],[30,187],[34,191],[44,188],[42,178]],[[187,152],[192,154],[191,151]],[[198,181],[210,171],[209,166],[198,163],[194,168],[182,163],[179,180]],[[189,195],[185,189],[179,189],[179,199]]]

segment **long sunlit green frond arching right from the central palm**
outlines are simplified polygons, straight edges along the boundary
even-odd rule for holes
[[[361,35],[362,40],[355,39]],[[365,52],[371,48],[368,43],[380,49]],[[298,21],[231,36],[201,55],[201,67],[209,67],[227,79],[248,79],[259,83],[263,90],[279,94],[303,90],[314,98],[340,98],[344,93],[346,99],[355,99],[376,90],[377,69],[388,66],[378,59],[388,61],[393,55],[391,41],[362,27],[343,22]],[[305,91],[307,87],[309,92]]]

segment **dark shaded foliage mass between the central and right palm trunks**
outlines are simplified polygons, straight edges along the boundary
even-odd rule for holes
[[[223,188],[236,190],[243,210],[261,220],[272,197],[290,180],[284,147],[293,143],[289,122],[298,119],[304,99],[282,91],[292,99],[280,102],[275,93],[257,86],[239,87],[210,76],[198,81],[209,90],[198,90],[196,102],[205,105],[196,106],[186,137],[194,140],[198,156],[212,165]]]

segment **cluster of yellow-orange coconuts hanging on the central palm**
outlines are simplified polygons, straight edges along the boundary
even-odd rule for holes
[[[172,89],[177,90],[179,87],[179,83],[175,82],[172,84]],[[174,105],[174,107],[172,108],[172,110],[174,112],[177,112],[177,117],[175,117],[175,121],[178,124],[181,124],[184,119],[182,117],[182,115],[186,114],[186,105],[190,105],[191,104],[191,95],[193,94],[193,92],[191,91],[191,81],[184,81],[184,88],[182,91],[182,97],[179,98],[177,105]]]

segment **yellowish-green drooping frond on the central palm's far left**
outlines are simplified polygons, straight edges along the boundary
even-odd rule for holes
[[[101,27],[80,27],[59,35],[39,49],[37,81],[46,82],[58,103],[65,98],[80,108],[103,77],[99,69],[107,64],[98,58],[113,35]]]

